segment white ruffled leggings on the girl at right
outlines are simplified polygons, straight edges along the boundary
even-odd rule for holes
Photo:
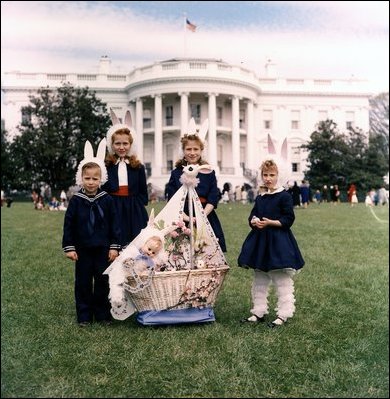
[[[255,270],[252,284],[251,313],[263,317],[268,313],[268,290],[271,283],[275,285],[278,303],[275,308],[277,316],[283,320],[292,317],[295,312],[294,275],[292,269],[271,270],[263,272]]]

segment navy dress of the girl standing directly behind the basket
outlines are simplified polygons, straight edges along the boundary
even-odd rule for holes
[[[183,174],[183,168],[178,167],[172,170],[171,177],[169,179],[168,185],[166,187],[166,192],[168,195],[168,200],[170,200],[177,190],[182,186],[180,182],[180,177]],[[223,252],[226,252],[226,242],[225,236],[223,234],[221,222],[218,219],[215,209],[217,209],[218,202],[220,199],[220,192],[217,185],[217,178],[215,172],[211,173],[199,173],[197,178],[199,179],[199,184],[195,187],[195,191],[198,194],[200,202],[203,208],[206,204],[211,204],[214,209],[207,215],[207,219],[214,231],[214,234],[218,238],[218,243]],[[188,214],[188,209],[184,209],[186,214]]]

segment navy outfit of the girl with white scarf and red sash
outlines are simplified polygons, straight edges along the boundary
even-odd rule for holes
[[[108,180],[102,189],[114,199],[121,229],[119,243],[124,247],[147,225],[148,213],[145,207],[148,205],[148,190],[145,167],[140,165],[138,168],[132,168],[126,164],[129,195],[115,195],[119,190],[118,168],[119,164],[107,167]]]

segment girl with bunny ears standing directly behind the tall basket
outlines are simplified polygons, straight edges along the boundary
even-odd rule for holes
[[[195,120],[191,118],[187,134],[181,138],[181,147],[183,150],[183,158],[179,159],[172,170],[169,182],[166,186],[168,200],[170,200],[176,191],[182,186],[181,177],[183,168],[188,165],[205,165],[207,162],[202,159],[202,151],[204,149],[204,139],[208,131],[208,119],[201,125],[199,132],[196,130]],[[221,223],[215,212],[220,200],[220,191],[217,185],[217,178],[214,171],[209,173],[199,173],[197,178],[199,183],[195,190],[202,203],[207,219],[210,222],[214,234],[218,238],[219,245],[223,252],[226,252],[225,236]],[[184,215],[184,221],[188,221],[188,210]]]

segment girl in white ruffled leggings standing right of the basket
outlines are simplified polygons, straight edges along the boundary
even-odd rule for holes
[[[285,142],[287,145],[287,142]],[[282,154],[283,155],[283,154]],[[283,164],[274,159],[261,164],[261,178],[265,189],[255,201],[248,221],[251,228],[245,239],[238,265],[254,269],[252,285],[252,316],[242,322],[264,322],[268,313],[268,289],[273,283],[278,297],[277,318],[269,327],[280,326],[295,312],[294,273],[304,265],[298,244],[291,231],[294,223],[294,207],[290,193],[283,184]]]

